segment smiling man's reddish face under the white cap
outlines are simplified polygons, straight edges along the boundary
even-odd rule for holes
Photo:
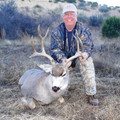
[[[63,20],[66,26],[75,26],[77,15],[72,11],[65,12],[63,15]]]

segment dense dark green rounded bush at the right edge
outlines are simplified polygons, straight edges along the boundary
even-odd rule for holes
[[[120,36],[120,18],[114,16],[106,19],[102,27],[102,35],[108,38]]]

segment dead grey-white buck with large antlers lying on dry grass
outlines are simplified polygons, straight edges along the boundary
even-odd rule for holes
[[[52,65],[39,65],[42,70],[28,70],[19,79],[21,93],[24,96],[22,100],[30,109],[34,109],[36,107],[35,101],[39,101],[41,104],[49,104],[64,95],[69,84],[69,72],[67,64],[73,59],[81,56],[81,52],[79,50],[79,43],[81,42],[76,32],[76,36],[74,36],[77,40],[76,54],[67,59],[65,63],[56,63],[54,59],[45,52],[44,49],[44,40],[47,34],[48,30],[46,35],[42,37],[40,33],[40,26],[38,26],[38,35],[41,41],[42,52],[39,53],[35,50],[32,40],[32,48],[34,53],[30,56],[30,58],[44,56],[50,60]],[[81,47],[83,49],[82,44]]]

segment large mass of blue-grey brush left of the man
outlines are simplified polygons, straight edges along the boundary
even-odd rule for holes
[[[40,24],[43,34],[52,23],[60,20],[60,15],[53,13],[51,15],[33,18],[17,11],[13,1],[4,2],[0,9],[0,37],[3,38],[2,30],[5,30],[6,38],[15,40],[21,38],[24,34],[38,36],[37,26]],[[7,6],[7,7],[6,7]]]

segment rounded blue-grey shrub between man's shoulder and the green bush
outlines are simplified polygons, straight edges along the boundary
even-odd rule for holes
[[[103,22],[103,17],[101,15],[93,15],[89,17],[89,25],[99,26]]]

